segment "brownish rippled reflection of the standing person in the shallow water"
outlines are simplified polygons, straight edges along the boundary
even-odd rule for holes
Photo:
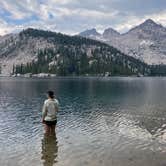
[[[42,139],[42,157],[43,166],[53,166],[56,163],[58,154],[56,133],[53,136],[44,135]]]

